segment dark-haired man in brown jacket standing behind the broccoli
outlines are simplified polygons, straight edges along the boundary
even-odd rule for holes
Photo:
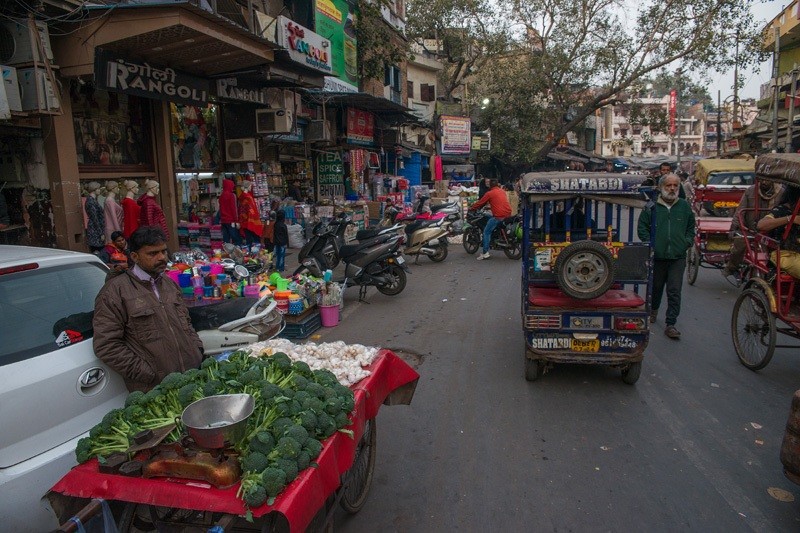
[[[148,391],[203,360],[180,289],[162,275],[166,241],[155,226],[134,231],[128,240],[134,267],[108,280],[95,299],[95,355],[122,375],[129,391]]]

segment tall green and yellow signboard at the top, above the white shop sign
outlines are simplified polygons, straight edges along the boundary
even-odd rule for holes
[[[358,86],[358,61],[355,15],[347,0],[317,0],[315,29],[331,41],[333,74]]]

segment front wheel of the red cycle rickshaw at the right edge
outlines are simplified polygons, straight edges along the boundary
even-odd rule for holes
[[[739,362],[750,370],[761,370],[775,353],[775,316],[767,297],[758,289],[747,289],[733,306],[733,347]]]

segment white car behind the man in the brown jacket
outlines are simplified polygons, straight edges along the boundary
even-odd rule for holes
[[[75,445],[124,405],[122,378],[92,349],[94,299],[108,272],[90,254],[0,246],[0,529],[50,531],[45,494]]]

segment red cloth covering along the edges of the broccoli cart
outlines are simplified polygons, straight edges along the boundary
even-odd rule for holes
[[[342,475],[353,465],[356,446],[367,421],[378,414],[382,403],[408,404],[419,374],[389,350],[382,350],[370,365],[371,374],[356,383],[355,408],[348,429],[353,438],[337,432],[323,442],[316,468],[307,468],[275,500],[274,505],[252,509],[258,518],[273,511],[283,514],[291,531],[303,531],[329,496],[341,485]],[[159,507],[193,509],[228,515],[247,511],[236,497],[237,483],[217,489],[204,482],[173,478],[134,478],[98,471],[96,459],[70,470],[51,489],[77,498],[102,498]]]

